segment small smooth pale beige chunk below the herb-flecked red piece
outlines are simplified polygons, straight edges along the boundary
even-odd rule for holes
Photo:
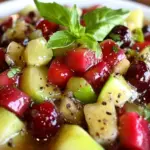
[[[130,67],[130,62],[128,59],[124,58],[123,60],[121,60],[114,68],[113,68],[113,72],[114,73],[119,73],[119,74],[126,74],[126,72],[128,71]]]

